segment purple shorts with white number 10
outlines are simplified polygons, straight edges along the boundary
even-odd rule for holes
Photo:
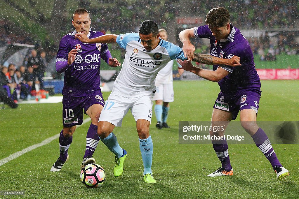
[[[94,104],[104,106],[103,94],[100,91],[94,91],[83,97],[73,97],[63,95],[62,98],[62,124],[64,127],[73,127],[81,125],[84,113]]]

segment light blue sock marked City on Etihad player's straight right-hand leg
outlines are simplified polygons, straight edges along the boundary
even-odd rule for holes
[[[139,148],[141,151],[142,161],[143,161],[143,175],[147,173],[152,173],[152,137],[149,136],[145,140],[139,139]]]

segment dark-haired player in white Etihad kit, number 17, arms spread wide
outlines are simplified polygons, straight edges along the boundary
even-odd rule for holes
[[[123,117],[131,109],[139,136],[144,166],[143,179],[147,183],[156,182],[152,177],[153,144],[149,135],[152,97],[156,90],[155,78],[170,60],[184,59],[184,53],[180,47],[160,39],[159,36],[158,25],[149,20],[140,24],[139,33],[108,34],[93,39],[87,38],[82,33],[77,33],[75,36],[86,43],[117,43],[126,49],[123,67],[115,80],[98,124],[98,135],[101,141],[115,154],[115,177],[123,173],[123,161],[127,152],[119,146],[112,131],[115,126],[121,126]],[[221,62],[224,59],[213,58],[213,60]],[[233,61],[230,64],[233,65]]]

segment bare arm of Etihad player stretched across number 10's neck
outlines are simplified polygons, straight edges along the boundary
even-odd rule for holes
[[[116,43],[116,37],[117,37],[117,35],[107,34],[107,35],[102,35],[102,36],[90,39],[86,36],[86,34],[83,34],[83,33],[77,33],[75,35],[75,38],[79,39],[80,41],[82,41],[84,43],[89,43],[89,44]]]

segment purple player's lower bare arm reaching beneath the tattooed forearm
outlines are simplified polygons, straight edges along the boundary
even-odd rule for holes
[[[224,70],[221,67],[218,67],[217,70],[205,70],[196,66],[193,66],[191,61],[178,59],[177,62],[181,65],[181,67],[178,67],[178,69],[184,69],[186,71],[193,72],[194,74],[205,78],[209,81],[218,82],[222,80],[226,75],[229,74],[227,70]]]

